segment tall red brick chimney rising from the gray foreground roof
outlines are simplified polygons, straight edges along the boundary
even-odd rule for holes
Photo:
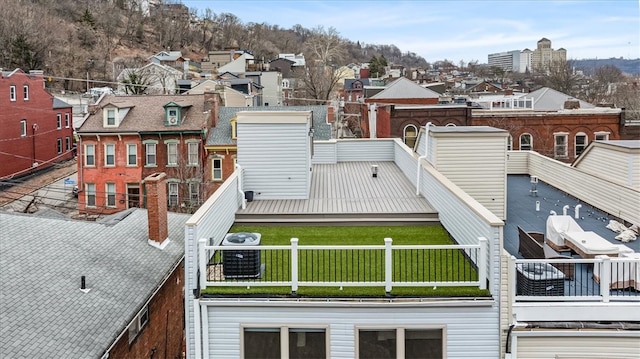
[[[165,173],[156,172],[144,179],[144,185],[147,190],[148,243],[160,249],[169,244],[166,177]]]

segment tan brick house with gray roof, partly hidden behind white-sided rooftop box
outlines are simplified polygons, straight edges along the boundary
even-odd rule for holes
[[[205,144],[205,182],[208,184],[206,197],[220,188],[227,178],[235,172],[238,156],[237,114],[241,111],[259,111],[261,113],[309,111],[312,113],[313,138],[321,141],[331,139],[331,125],[327,122],[328,107],[324,105],[220,107],[218,119],[210,129]]]

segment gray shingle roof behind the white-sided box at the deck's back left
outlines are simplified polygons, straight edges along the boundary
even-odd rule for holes
[[[327,106],[259,106],[259,107],[220,107],[218,124],[212,128],[207,137],[207,146],[236,145],[231,138],[231,119],[239,111],[312,111],[314,140],[330,140],[331,125],[327,123]]]

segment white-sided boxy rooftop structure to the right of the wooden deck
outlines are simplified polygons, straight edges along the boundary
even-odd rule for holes
[[[431,132],[429,140],[438,172],[498,218],[506,218],[506,133]]]

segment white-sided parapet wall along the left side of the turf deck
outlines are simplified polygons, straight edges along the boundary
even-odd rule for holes
[[[187,357],[195,358],[198,335],[194,322],[193,290],[197,288],[198,252],[200,238],[213,238],[220,244],[235,221],[235,213],[242,205],[243,195],[238,191],[238,175],[234,172],[224,184],[194,213],[185,225],[185,327]]]

